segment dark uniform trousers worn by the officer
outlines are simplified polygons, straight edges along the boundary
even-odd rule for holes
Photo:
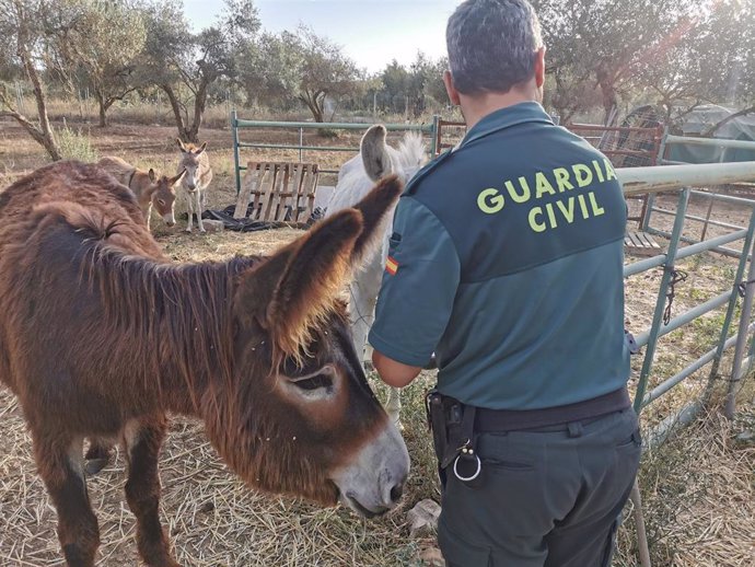
[[[640,459],[631,408],[564,427],[483,433],[474,487],[446,470],[448,567],[605,567]]]

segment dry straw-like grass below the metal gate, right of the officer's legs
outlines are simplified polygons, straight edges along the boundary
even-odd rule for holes
[[[755,405],[733,423],[713,410],[646,453],[640,470],[646,525],[658,567],[750,567],[755,557]],[[636,565],[634,521],[619,532],[615,565]]]

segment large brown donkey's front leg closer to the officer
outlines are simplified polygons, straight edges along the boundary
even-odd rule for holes
[[[126,500],[137,517],[137,547],[149,567],[178,567],[160,525],[158,456],[165,437],[165,417],[130,423],[125,430],[128,459]]]

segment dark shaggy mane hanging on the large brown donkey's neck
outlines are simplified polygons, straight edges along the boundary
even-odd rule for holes
[[[113,336],[140,337],[132,343],[142,351],[133,358],[143,360],[147,375],[160,375],[169,357],[189,391],[217,379],[228,385],[234,280],[260,257],[172,264],[109,244],[117,224],[104,231],[92,222],[76,232],[82,238],[74,259],[80,285],[98,292],[102,324]]]

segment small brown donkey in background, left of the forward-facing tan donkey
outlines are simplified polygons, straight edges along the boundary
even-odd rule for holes
[[[139,208],[144,213],[144,222],[150,228],[152,206],[165,224],[173,227],[176,223],[173,209],[176,201],[176,184],[183,180],[186,172],[179,172],[175,177],[163,175],[158,178],[154,170],[150,167],[144,172],[138,170],[126,160],[108,155],[97,162],[97,165],[126,185],[137,197]]]

